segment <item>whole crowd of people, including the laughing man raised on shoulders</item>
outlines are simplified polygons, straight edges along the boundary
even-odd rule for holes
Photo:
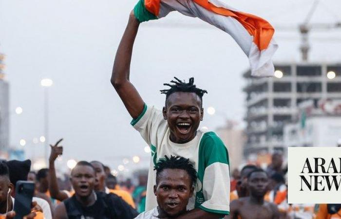
[[[140,1],[143,2],[143,1]],[[138,12],[138,18],[135,14]],[[254,164],[233,170],[227,147],[217,134],[199,128],[206,90],[176,77],[165,83],[165,106],[146,104],[130,81],[139,18],[152,16],[143,5],[131,12],[114,60],[111,82],[131,125],[151,148],[147,179],[138,185],[117,182],[100,161],[79,161],[68,183],[57,178],[55,161],[62,139],[51,145],[48,168],[31,171],[31,162],[0,163],[0,219],[16,212],[18,181],[35,183],[27,219],[297,219],[341,218],[340,205],[289,205],[283,155],[274,153],[262,169]],[[145,19],[147,20],[147,19]]]

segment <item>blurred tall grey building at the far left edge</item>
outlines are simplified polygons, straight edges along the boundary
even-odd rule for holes
[[[4,80],[4,57],[0,53],[0,152],[7,151],[9,145],[9,85]]]

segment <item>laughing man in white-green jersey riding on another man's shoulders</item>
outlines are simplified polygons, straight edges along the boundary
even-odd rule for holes
[[[135,10],[139,10],[135,7]],[[220,219],[229,214],[229,161],[224,143],[214,132],[199,129],[203,120],[202,97],[207,91],[177,78],[170,89],[162,90],[166,94],[163,110],[144,103],[138,91],[130,81],[130,64],[133,43],[137,35],[139,21],[131,12],[127,28],[117,49],[111,82],[132,116],[132,125],[140,132],[150,146],[152,162],[150,165],[146,210],[157,206],[153,194],[156,173],[153,167],[165,155],[189,158],[197,170],[198,180],[187,209],[177,219]]]

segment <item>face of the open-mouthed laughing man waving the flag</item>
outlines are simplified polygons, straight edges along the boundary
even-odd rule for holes
[[[170,127],[170,140],[187,143],[195,137],[200,121],[203,120],[202,100],[194,92],[174,92],[163,108],[164,119]]]

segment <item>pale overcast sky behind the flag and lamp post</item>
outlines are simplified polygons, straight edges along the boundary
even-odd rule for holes
[[[276,29],[280,48],[274,61],[300,61],[300,35],[295,28],[313,0],[224,0],[241,11],[267,19]],[[11,146],[25,139],[28,157],[41,156],[43,89],[49,77],[50,141],[63,137],[67,159],[101,160],[116,168],[122,159],[139,155],[148,164],[145,143],[130,126],[131,118],[110,84],[114,55],[136,0],[0,0],[0,52],[6,54],[10,83]],[[323,0],[312,23],[341,20],[340,0]],[[165,27],[166,26],[166,27]],[[285,29],[284,29],[285,27]],[[288,31],[287,29],[292,29]],[[310,34],[310,60],[341,62],[341,31]],[[131,80],[147,104],[161,108],[159,90],[173,76],[195,77],[208,90],[204,107],[220,115],[204,117],[210,129],[226,118],[242,122],[248,59],[226,33],[177,12],[140,25],[134,47]],[[34,148],[34,150],[33,150]],[[62,164],[62,163],[61,163]],[[130,166],[134,168],[136,166]]]

